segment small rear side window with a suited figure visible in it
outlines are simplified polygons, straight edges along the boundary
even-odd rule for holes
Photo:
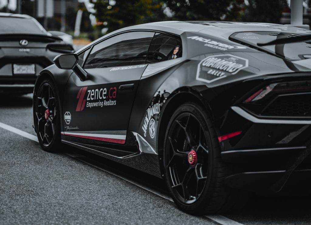
[[[147,63],[158,63],[182,57],[182,42],[179,38],[156,33],[147,56]]]

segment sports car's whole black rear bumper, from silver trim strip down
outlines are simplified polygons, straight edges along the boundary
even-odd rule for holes
[[[242,131],[220,143],[233,171],[226,185],[260,194],[298,183],[311,189],[311,120],[261,119],[231,107],[226,124]]]

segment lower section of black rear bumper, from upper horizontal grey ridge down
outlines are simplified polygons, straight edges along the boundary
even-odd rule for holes
[[[297,183],[311,187],[310,152],[310,146],[222,152],[222,159],[234,163],[239,170],[226,177],[225,183],[261,194],[279,192],[285,185]]]

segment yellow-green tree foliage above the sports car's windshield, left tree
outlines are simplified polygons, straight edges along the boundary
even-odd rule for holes
[[[108,28],[108,32],[148,22],[154,11],[161,9],[161,4],[155,0],[97,0],[93,2],[99,28]],[[112,4],[113,2],[113,4]],[[110,4],[109,4],[110,3]]]

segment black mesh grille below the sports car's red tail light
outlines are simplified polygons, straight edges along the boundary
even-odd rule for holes
[[[262,112],[264,116],[311,116],[311,93],[279,96]]]

